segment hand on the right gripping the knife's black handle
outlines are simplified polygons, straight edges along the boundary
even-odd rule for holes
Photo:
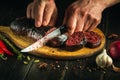
[[[100,23],[104,9],[99,0],[77,0],[67,8],[63,24],[69,34],[93,30]]]

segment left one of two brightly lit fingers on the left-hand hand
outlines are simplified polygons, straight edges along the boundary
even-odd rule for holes
[[[45,8],[44,1],[41,1],[41,3],[36,5],[35,7],[35,26],[36,27],[40,27],[42,25],[44,8]]]

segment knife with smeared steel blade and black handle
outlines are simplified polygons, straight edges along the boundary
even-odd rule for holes
[[[21,52],[30,52],[33,50],[36,50],[46,44],[46,42],[54,37],[57,37],[58,35],[64,33],[67,31],[67,28],[65,25],[60,26],[59,28],[55,29],[54,31],[50,32],[43,38],[37,40],[35,43],[31,44],[30,46],[24,48],[21,50]]]

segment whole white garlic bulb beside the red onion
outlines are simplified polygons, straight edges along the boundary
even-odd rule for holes
[[[113,64],[112,58],[106,53],[106,49],[103,49],[103,52],[96,57],[96,63],[101,68],[109,67]]]

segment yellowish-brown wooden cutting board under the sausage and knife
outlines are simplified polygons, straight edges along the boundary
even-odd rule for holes
[[[29,39],[20,37],[15,35],[9,28],[9,26],[0,26],[0,32],[6,33],[11,41],[13,41],[19,48],[23,49],[33,42],[30,41]],[[39,48],[35,51],[29,52],[30,54],[37,55],[37,56],[42,56],[42,57],[49,57],[49,58],[54,58],[54,59],[77,59],[77,58],[84,58],[84,57],[89,57],[97,52],[101,51],[104,48],[105,45],[105,36],[101,30],[96,28],[94,32],[97,32],[99,35],[102,36],[102,42],[101,45],[97,48],[82,48],[77,51],[66,51],[62,50],[59,48],[52,48],[48,46],[43,46],[42,48]]]

